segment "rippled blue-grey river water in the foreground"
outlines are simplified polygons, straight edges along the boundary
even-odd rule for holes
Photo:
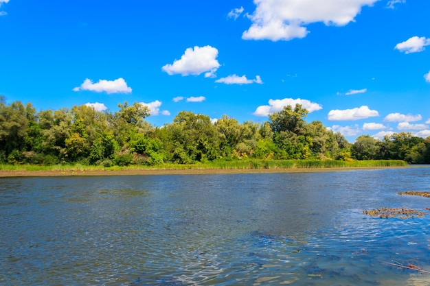
[[[1,285],[430,285],[430,168],[0,179]],[[409,283],[409,284],[408,284]]]

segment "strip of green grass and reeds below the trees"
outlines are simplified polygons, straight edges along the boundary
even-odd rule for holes
[[[341,160],[214,160],[195,164],[163,164],[154,167],[131,165],[127,167],[75,165],[0,165],[1,171],[96,171],[96,170],[140,170],[140,169],[306,169],[306,168],[348,168],[348,167],[403,167],[403,160],[357,160],[346,162]]]

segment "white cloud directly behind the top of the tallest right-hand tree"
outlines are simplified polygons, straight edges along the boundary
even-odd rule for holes
[[[258,106],[253,115],[256,116],[267,116],[272,114],[273,112],[278,112],[282,110],[285,106],[295,107],[296,104],[302,104],[302,108],[306,108],[308,112],[313,112],[315,110],[322,109],[320,104],[316,104],[315,102],[310,102],[307,99],[293,99],[293,98],[284,98],[284,99],[269,99],[269,105]]]

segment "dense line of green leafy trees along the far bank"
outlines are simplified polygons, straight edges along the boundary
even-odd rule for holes
[[[354,144],[321,121],[305,121],[301,105],[286,106],[255,123],[223,115],[212,123],[207,115],[181,111],[172,123],[154,127],[147,106],[127,102],[117,112],[91,106],[36,109],[0,97],[0,163],[55,165],[192,164],[208,160],[257,159],[400,159],[430,163],[430,138],[410,133],[368,135]]]

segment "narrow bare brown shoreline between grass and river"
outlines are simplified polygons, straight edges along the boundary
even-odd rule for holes
[[[49,171],[0,170],[0,178],[59,177],[59,176],[155,176],[155,175],[316,173],[316,172],[327,172],[327,171],[403,169],[403,168],[411,168],[411,167],[420,167],[420,166],[409,165],[409,166],[394,166],[394,167],[322,167],[322,168],[273,168],[273,169],[124,169],[124,170],[69,169],[69,170],[49,170]]]

